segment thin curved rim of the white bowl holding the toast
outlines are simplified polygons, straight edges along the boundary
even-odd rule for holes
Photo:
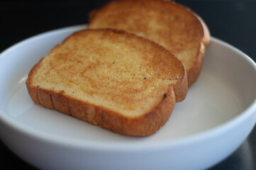
[[[4,58],[6,54],[11,52],[12,50],[15,50],[17,47],[20,47],[21,45],[26,45],[27,42],[33,41],[35,39],[40,39],[45,36],[52,36],[56,33],[65,33],[72,31],[77,31],[86,28],[87,25],[78,25],[78,26],[69,26],[65,28],[59,28],[55,30],[50,30],[45,33],[40,33],[38,35],[33,35],[30,38],[26,38],[25,40],[22,40],[20,42],[17,42],[16,44],[12,45],[11,47],[7,48],[3,52],[0,53],[0,62],[1,59]],[[217,43],[218,45],[225,46],[228,49],[237,52],[240,56],[242,56],[248,64],[250,64],[250,67],[255,69],[256,72],[256,64],[255,62],[245,55],[242,51],[238,50],[236,47],[233,47],[233,45],[228,44],[227,42],[224,42],[223,40],[219,40],[218,38],[211,37],[211,44]],[[80,139],[70,139],[68,137],[64,136],[56,136],[48,134],[47,132],[41,132],[40,130],[33,130],[26,125],[23,125],[22,123],[18,123],[16,120],[11,119],[9,116],[4,114],[2,111],[0,111],[0,120],[2,123],[5,123],[10,128],[13,128],[17,132],[27,135],[28,137],[33,137],[36,140],[40,140],[43,142],[50,142],[54,143],[56,145],[61,145],[63,147],[72,147],[77,149],[94,149],[94,150],[105,150],[105,151],[125,151],[125,152],[138,152],[138,151],[145,151],[145,150],[153,150],[153,149],[166,149],[167,147],[182,147],[184,145],[200,142],[202,140],[209,139],[211,137],[216,137],[218,135],[221,135],[228,130],[233,129],[235,126],[239,125],[243,121],[245,121],[247,118],[249,118],[254,112],[256,112],[256,98],[254,101],[245,108],[244,111],[242,111],[240,114],[236,115],[234,118],[226,121],[225,123],[222,123],[221,125],[216,125],[215,127],[203,130],[201,132],[196,132],[192,135],[187,135],[184,137],[177,137],[175,139],[168,139],[168,140],[162,140],[162,141],[154,141],[154,142],[148,142],[148,143],[133,143],[133,142],[101,142],[101,141],[91,141],[91,140],[80,140]]]

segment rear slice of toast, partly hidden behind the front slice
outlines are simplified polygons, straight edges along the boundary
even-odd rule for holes
[[[155,41],[187,70],[189,86],[199,77],[210,33],[204,21],[171,1],[113,1],[90,13],[89,28],[115,28]]]

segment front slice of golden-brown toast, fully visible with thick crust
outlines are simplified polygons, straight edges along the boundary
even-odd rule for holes
[[[121,30],[82,30],[35,64],[33,101],[125,135],[151,135],[187,95],[187,74],[164,47]]]

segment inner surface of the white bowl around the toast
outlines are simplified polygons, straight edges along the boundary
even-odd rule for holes
[[[76,30],[64,28],[38,35],[11,47],[0,57],[0,116],[32,135],[60,141],[155,143],[196,135],[228,123],[252,105],[256,98],[255,64],[225,42],[212,38],[204,67],[187,98],[177,103],[171,118],[155,135],[129,137],[37,106],[25,81],[28,72],[50,49]]]

